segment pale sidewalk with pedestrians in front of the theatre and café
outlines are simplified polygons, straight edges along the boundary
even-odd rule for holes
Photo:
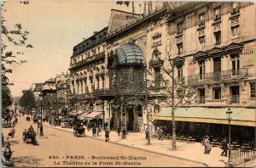
[[[50,126],[47,124],[44,124],[44,126],[73,133],[73,129],[70,128],[61,128],[61,126]],[[105,140],[104,131],[101,132],[100,137],[92,137],[91,130],[90,132],[86,130],[85,134],[87,137],[96,138],[102,141]],[[182,158],[183,160],[193,160],[210,167],[224,167],[224,162],[228,161],[228,157],[220,156],[222,150],[218,147],[212,147],[211,154],[204,154],[204,147],[201,143],[182,143],[177,141],[176,151],[171,149],[170,140],[161,141],[158,140],[158,138],[151,138],[151,144],[147,145],[145,133],[143,132],[128,132],[126,139],[121,140],[121,137],[118,136],[117,132],[112,131],[109,133],[109,139],[110,143],[118,143],[131,148],[139,148],[153,153]]]

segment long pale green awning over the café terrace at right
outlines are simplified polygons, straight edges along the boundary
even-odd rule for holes
[[[231,125],[236,126],[256,126],[256,109],[230,108],[233,112]],[[226,111],[228,108],[204,108],[188,107],[179,108],[175,111],[175,120],[188,122],[204,122],[213,124],[228,125]],[[172,109],[167,108],[157,115],[153,115],[153,120],[172,120]]]

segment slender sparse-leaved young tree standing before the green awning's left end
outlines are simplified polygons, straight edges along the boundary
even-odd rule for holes
[[[169,67],[169,68],[168,68]],[[175,110],[183,106],[184,104],[190,104],[197,98],[193,89],[186,83],[184,77],[179,79],[174,76],[175,60],[171,58],[171,55],[167,55],[166,67],[163,67],[163,72],[160,76],[157,76],[157,81],[160,81],[161,86],[151,86],[148,89],[151,92],[160,92],[162,97],[160,101],[165,102],[172,107],[172,150],[177,150],[176,146],[176,122],[175,122]],[[156,83],[157,81],[151,81]]]

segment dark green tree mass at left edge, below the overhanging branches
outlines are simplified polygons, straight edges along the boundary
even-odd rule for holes
[[[11,96],[11,91],[8,86],[2,86],[2,111],[13,104],[13,98]]]

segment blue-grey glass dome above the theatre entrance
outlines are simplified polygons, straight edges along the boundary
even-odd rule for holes
[[[134,44],[124,44],[117,49],[119,64],[143,63],[143,52]]]

